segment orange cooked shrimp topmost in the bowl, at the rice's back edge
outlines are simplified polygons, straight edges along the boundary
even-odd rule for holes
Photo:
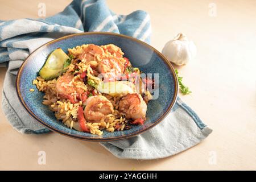
[[[86,63],[89,63],[90,61],[95,61],[96,55],[103,55],[104,50],[100,46],[96,46],[94,44],[89,44],[88,47],[84,49],[80,59],[86,59]]]

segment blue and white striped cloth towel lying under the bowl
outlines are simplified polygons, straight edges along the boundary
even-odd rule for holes
[[[0,20],[0,64],[8,67],[3,84],[2,109],[7,120],[20,133],[43,134],[49,131],[17,102],[15,77],[23,60],[50,40],[88,31],[115,32],[149,43],[150,16],[141,10],[117,15],[104,0],[74,0],[63,12],[49,18]],[[195,146],[212,132],[180,99],[171,115],[142,135],[101,144],[118,158],[156,159]]]

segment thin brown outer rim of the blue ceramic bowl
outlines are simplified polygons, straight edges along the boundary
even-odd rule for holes
[[[175,84],[175,90],[174,90],[174,100],[172,100],[172,102],[168,105],[167,110],[164,112],[164,114],[158,118],[154,123],[152,123],[152,125],[148,126],[145,129],[136,131],[135,133],[132,134],[128,134],[128,135],[121,135],[118,137],[108,137],[108,138],[92,138],[92,137],[85,137],[85,136],[81,136],[81,135],[74,135],[74,134],[70,134],[70,133],[65,133],[64,131],[58,130],[55,127],[52,127],[50,125],[48,125],[46,122],[44,122],[42,119],[38,118],[26,105],[26,103],[24,102],[22,96],[21,96],[21,92],[20,92],[20,75],[22,74],[23,68],[24,66],[27,64],[27,60],[30,59],[30,57],[32,55],[34,55],[35,52],[38,52],[42,47],[44,46],[48,46],[50,44],[53,44],[55,42],[59,42],[60,40],[63,39],[67,39],[67,38],[72,38],[74,36],[81,36],[81,35],[114,35],[114,36],[121,36],[123,38],[126,39],[130,39],[133,40],[139,44],[142,44],[143,46],[146,46],[150,49],[152,49],[152,51],[154,51],[159,57],[161,57],[164,62],[167,64],[168,69],[170,70],[170,72],[172,73],[172,76],[174,77],[174,84]],[[16,88],[16,93],[18,94],[18,98],[19,101],[21,102],[21,104],[23,105],[23,107],[26,109],[26,111],[28,112],[28,114],[30,114],[30,116],[32,118],[34,118],[37,122],[39,122],[41,125],[47,127],[49,130],[51,131],[55,131],[56,133],[59,133],[61,135],[64,135],[66,137],[71,137],[71,138],[76,138],[76,139],[81,139],[81,140],[86,140],[86,141],[90,141],[90,142],[110,142],[110,141],[114,141],[114,140],[121,140],[121,139],[127,139],[130,137],[135,137],[136,135],[142,134],[147,130],[152,129],[152,127],[155,127],[156,125],[158,125],[160,122],[163,121],[164,118],[166,118],[166,116],[170,113],[172,107],[175,105],[176,101],[177,101],[177,93],[178,93],[178,81],[177,81],[177,76],[175,74],[175,70],[172,67],[171,63],[167,60],[167,58],[160,53],[157,49],[155,49],[154,47],[150,46],[149,44],[142,42],[141,40],[138,40],[136,38],[133,38],[131,36],[127,36],[127,35],[123,35],[123,34],[115,34],[113,32],[81,32],[81,33],[77,33],[77,34],[70,34],[70,35],[65,35],[61,38],[57,38],[54,40],[51,40],[45,44],[43,44],[42,46],[36,48],[33,52],[30,53],[30,55],[28,55],[28,57],[23,61],[22,65],[20,65],[20,68],[18,70],[17,76],[16,76],[16,80],[15,80],[15,88]]]

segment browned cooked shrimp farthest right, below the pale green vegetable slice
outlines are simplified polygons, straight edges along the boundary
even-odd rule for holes
[[[127,119],[145,118],[147,105],[140,94],[127,94],[119,102],[119,111],[125,113]]]

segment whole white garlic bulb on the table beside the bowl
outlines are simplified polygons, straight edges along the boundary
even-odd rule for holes
[[[164,46],[162,53],[176,65],[184,65],[196,56],[196,46],[184,34],[178,34]]]

